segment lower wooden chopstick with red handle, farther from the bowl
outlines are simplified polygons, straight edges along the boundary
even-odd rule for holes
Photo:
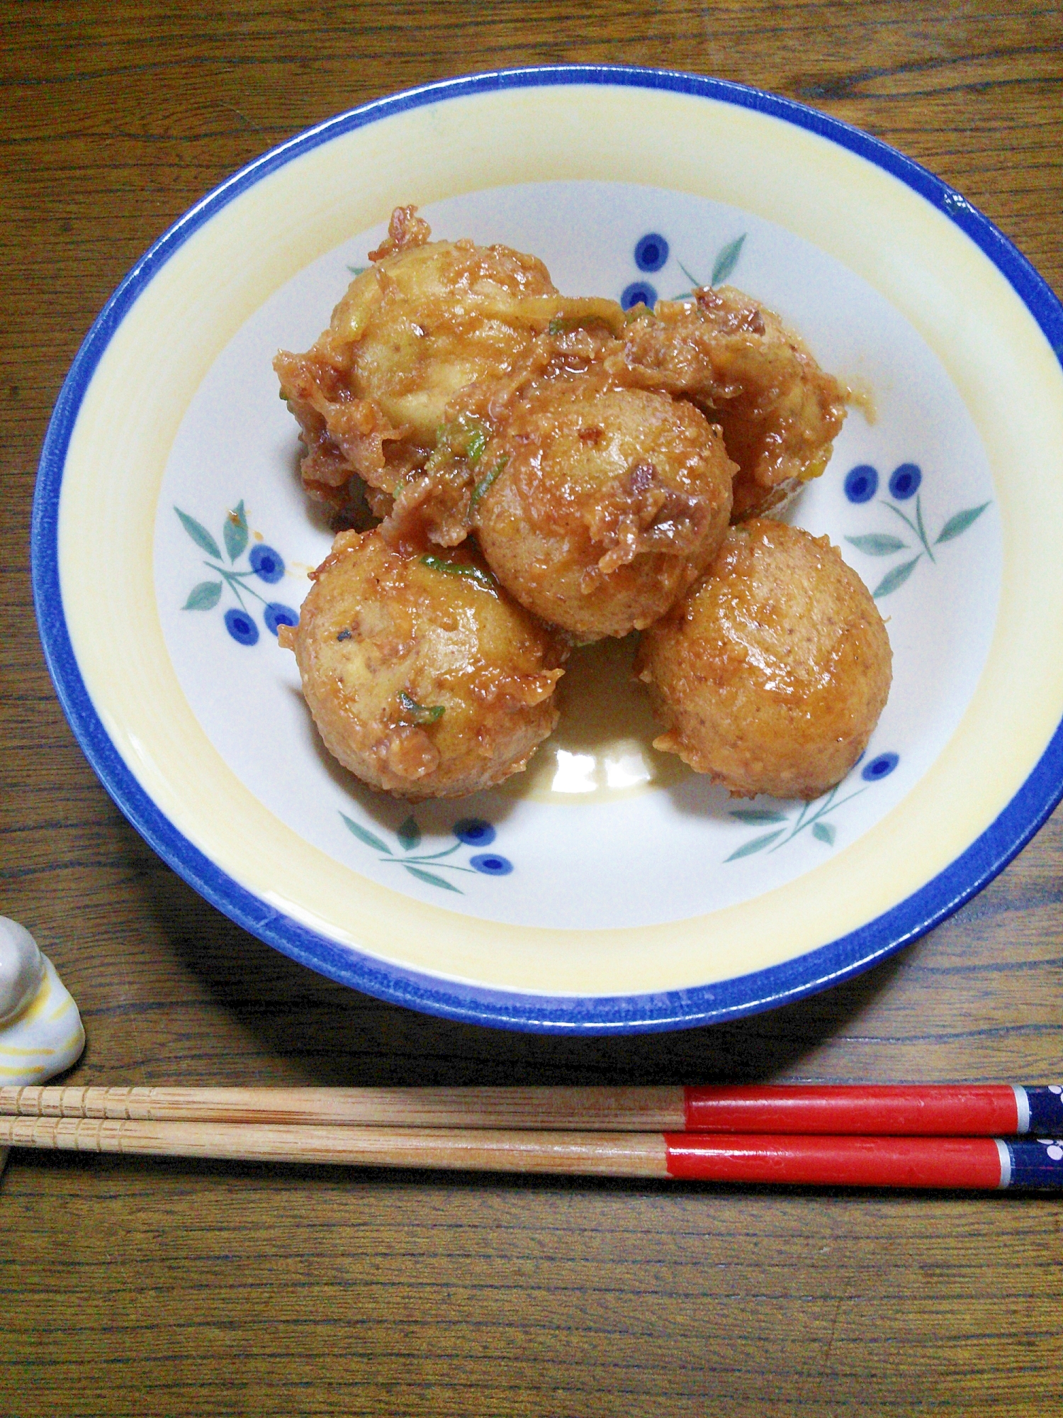
[[[0,1147],[832,1187],[1063,1188],[1063,1147],[994,1137],[580,1133],[0,1117]]]

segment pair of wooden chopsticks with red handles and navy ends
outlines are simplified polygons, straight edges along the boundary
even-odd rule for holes
[[[1062,1188],[1056,1139],[1059,1085],[0,1088],[0,1147],[234,1161]]]

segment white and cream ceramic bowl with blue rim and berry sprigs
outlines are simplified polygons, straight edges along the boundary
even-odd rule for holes
[[[651,747],[631,649],[573,657],[529,771],[411,808],[320,749],[278,625],[330,542],[271,369],[391,208],[541,257],[567,294],[729,281],[860,400],[788,513],[873,590],[890,700],[816,803],[731,801]],[[386,1000],[556,1032],[665,1029],[910,942],[1063,788],[1063,312],[893,149],[643,69],[476,75],[340,115],[143,257],[41,458],[34,587],[64,709],[146,839],[235,922]]]

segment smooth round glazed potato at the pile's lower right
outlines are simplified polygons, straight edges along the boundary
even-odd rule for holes
[[[638,676],[677,753],[734,797],[815,798],[863,753],[886,703],[890,642],[826,537],[754,518],[642,638]]]

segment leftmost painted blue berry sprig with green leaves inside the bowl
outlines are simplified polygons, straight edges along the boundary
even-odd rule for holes
[[[214,571],[215,577],[220,577],[220,580],[211,579],[193,586],[183,607],[186,611],[213,611],[221,600],[224,588],[228,587],[238,604],[230,607],[223,620],[225,630],[238,645],[257,645],[259,635],[258,623],[244,597],[252,597],[261,603],[262,610],[259,614],[271,635],[276,635],[282,625],[299,624],[298,611],[292,610],[291,605],[285,605],[283,601],[268,601],[252,584],[255,580],[259,580],[266,586],[276,586],[283,579],[285,563],[279,552],[275,552],[272,546],[258,542],[248,553],[248,569],[237,569],[237,562],[247,552],[251,539],[242,498],[235,508],[225,513],[225,520],[221,525],[221,540],[228,556],[228,566],[224,564],[225,559],[221,547],[207,527],[187,512],[181,512],[180,508],[174,508],[173,510],[180,518],[181,526],[196,546],[211,557],[211,560],[203,564]]]

